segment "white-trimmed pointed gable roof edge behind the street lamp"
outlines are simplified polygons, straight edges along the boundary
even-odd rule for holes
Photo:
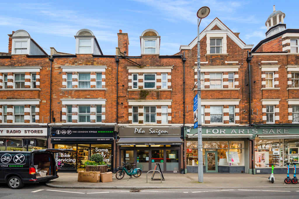
[[[219,27],[220,30],[213,30],[213,27]],[[234,32],[232,32],[225,24],[222,23],[217,17],[199,34],[199,40],[202,40],[207,33],[225,33],[236,43],[241,49],[251,49],[253,45],[246,45]],[[187,46],[181,45],[181,50],[190,50],[197,45],[197,37]]]

